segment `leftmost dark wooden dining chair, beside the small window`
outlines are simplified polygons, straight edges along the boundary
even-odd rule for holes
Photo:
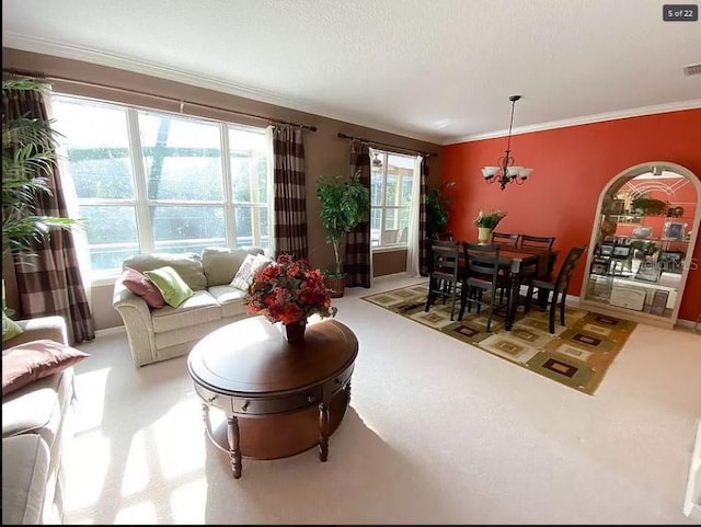
[[[450,320],[455,320],[456,302],[463,297],[461,256],[457,242],[428,240],[428,296],[424,311],[440,297],[444,303],[450,300]]]

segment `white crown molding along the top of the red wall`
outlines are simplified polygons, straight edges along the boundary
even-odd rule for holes
[[[520,126],[512,130],[512,135],[530,134],[532,131],[544,131],[556,128],[566,128],[567,126],[589,125],[593,123],[601,123],[604,121],[616,121],[628,117],[641,117],[644,115],[664,114],[667,112],[680,112],[683,110],[701,108],[701,99],[692,99],[691,101],[682,101],[677,103],[657,104],[654,106],[643,106],[639,108],[621,110],[617,112],[607,112],[602,114],[587,115],[583,117],[573,117],[571,119],[551,121],[538,125]],[[494,139],[496,137],[506,137],[508,129],[490,131],[486,134],[474,134],[470,136],[456,137],[441,142],[441,146],[456,145],[459,142],[481,141],[483,139]]]

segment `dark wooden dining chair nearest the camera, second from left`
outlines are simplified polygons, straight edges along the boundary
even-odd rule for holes
[[[472,303],[476,303],[478,313],[482,306],[490,308],[486,319],[487,333],[492,330],[492,317],[496,307],[496,293],[502,289],[510,291],[508,273],[499,273],[499,245],[480,245],[476,243],[462,242],[462,253],[464,257],[464,285],[463,297],[460,301],[460,316],[462,320],[464,308],[472,311]],[[483,293],[489,293],[489,299],[483,299]]]

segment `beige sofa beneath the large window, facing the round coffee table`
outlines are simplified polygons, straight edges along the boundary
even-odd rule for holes
[[[195,293],[177,308],[165,305],[151,309],[122,278],[116,280],[113,307],[124,321],[134,364],[143,366],[185,355],[203,336],[246,317],[245,290],[229,284],[246,254],[262,253],[257,248],[205,249],[202,254],[153,253],[126,259],[123,267],[140,272],[169,265]]]

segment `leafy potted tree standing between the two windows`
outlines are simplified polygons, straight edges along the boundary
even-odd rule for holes
[[[324,272],[333,298],[342,297],[346,274],[343,271],[341,242],[358,224],[367,219],[370,210],[370,190],[360,183],[360,173],[348,180],[322,175],[317,183],[317,197],[321,202],[321,222],[326,230],[326,242],[333,245],[336,261],[334,271]]]

